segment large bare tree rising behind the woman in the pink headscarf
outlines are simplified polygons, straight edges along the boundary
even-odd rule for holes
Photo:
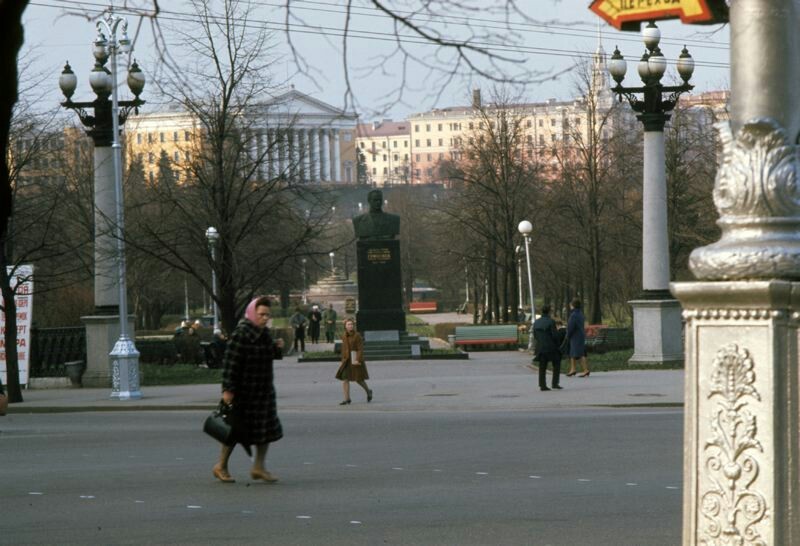
[[[243,24],[251,6],[231,0],[192,6],[196,15],[175,29],[192,60],[164,84],[195,124],[181,154],[191,159],[174,165],[186,167],[180,177],[160,177],[137,195],[126,240],[208,293],[213,269],[222,324],[231,331],[254,293],[285,291],[284,265],[306,252],[327,213],[313,188],[300,183],[296,161],[282,172],[270,168],[271,155],[290,155],[291,125],[276,127],[277,137],[259,144],[269,119],[270,66],[268,35]],[[219,233],[214,259],[208,227]]]

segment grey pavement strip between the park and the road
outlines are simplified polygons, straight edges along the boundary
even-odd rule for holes
[[[307,347],[308,348],[308,347]],[[471,352],[469,360],[405,360],[367,364],[375,393],[350,385],[352,405],[339,406],[337,362],[275,362],[278,411],[527,411],[579,407],[683,405],[683,370],[592,372],[588,378],[561,375],[563,390],[541,392],[530,355],[521,351]],[[562,366],[562,369],[566,366]],[[548,373],[548,385],[551,377]],[[220,386],[142,387],[139,400],[111,400],[109,389],[23,391],[10,413],[125,410],[210,410]]]

